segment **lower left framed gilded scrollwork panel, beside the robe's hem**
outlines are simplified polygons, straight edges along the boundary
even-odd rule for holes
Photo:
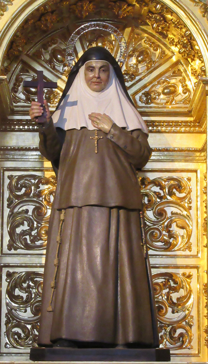
[[[1,353],[28,353],[37,345],[43,268],[2,267]]]

